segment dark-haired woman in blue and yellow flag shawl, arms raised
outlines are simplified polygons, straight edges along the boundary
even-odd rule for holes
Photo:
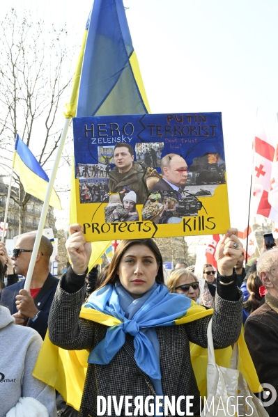
[[[85,242],[81,226],[71,226],[70,232],[72,265],[54,297],[49,338],[63,349],[91,352],[79,416],[154,416],[159,410],[164,415],[162,407],[172,415],[200,414],[189,342],[207,346],[211,317],[216,348],[238,340],[242,294],[233,267],[242,247],[237,230],[228,230],[218,245],[213,315],[184,295],[169,292],[153,239],[121,241],[107,278],[82,308],[91,243]],[[93,319],[79,318],[81,308]]]

